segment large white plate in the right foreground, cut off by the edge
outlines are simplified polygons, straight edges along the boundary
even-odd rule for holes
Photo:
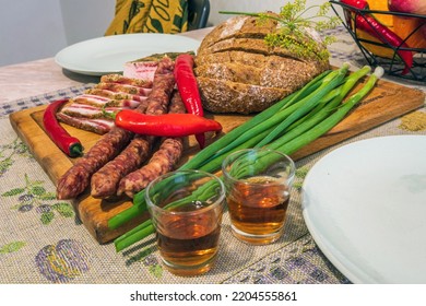
[[[354,283],[426,283],[426,137],[341,146],[303,186],[313,239]]]

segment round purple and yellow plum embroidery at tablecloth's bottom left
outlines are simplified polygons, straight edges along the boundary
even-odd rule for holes
[[[38,271],[52,283],[67,283],[90,270],[90,251],[74,239],[47,245],[35,257]]]

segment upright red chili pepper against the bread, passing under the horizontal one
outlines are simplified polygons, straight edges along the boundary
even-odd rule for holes
[[[179,55],[175,60],[175,79],[185,107],[189,114],[203,117],[204,111],[196,75],[193,74],[193,58],[188,54]],[[205,136],[197,133],[196,139],[201,149],[205,145]]]

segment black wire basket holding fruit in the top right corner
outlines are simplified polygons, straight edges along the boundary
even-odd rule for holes
[[[338,7],[343,9],[344,19],[342,19],[343,25],[354,38],[355,43],[359,47],[364,57],[371,67],[381,66],[386,73],[407,80],[414,80],[419,82],[426,82],[426,39],[422,34],[422,26],[426,27],[426,15],[406,14],[389,11],[375,11],[375,10],[358,10],[348,7],[339,1],[329,1],[332,4],[332,9],[338,16],[341,16]],[[395,27],[411,28],[409,33],[405,33],[405,37],[401,37],[409,46],[415,47],[402,47],[392,46],[387,43],[386,38],[380,42],[376,37],[368,35],[366,32],[356,28],[354,22],[357,15],[374,15],[382,24],[387,25],[387,22],[391,24],[387,25],[394,32]],[[410,26],[404,24],[410,23]],[[414,24],[415,23],[415,24]],[[380,33],[378,33],[380,35]],[[402,36],[402,35],[400,35]],[[398,56],[398,51],[407,50],[413,52],[413,66],[407,73],[403,73],[405,63]]]

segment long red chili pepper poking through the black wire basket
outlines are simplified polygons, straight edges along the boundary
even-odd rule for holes
[[[341,2],[359,10],[368,9],[368,3],[365,0],[341,0]],[[405,63],[405,68],[402,71],[402,74],[409,73],[410,68],[413,66],[413,54],[412,51],[400,49],[410,48],[404,43],[404,40],[391,30],[378,22],[374,16],[369,14],[359,14],[359,12],[355,12],[355,14],[356,28],[365,31],[369,35],[378,38],[383,44],[389,44],[390,46],[397,48],[397,54]]]

